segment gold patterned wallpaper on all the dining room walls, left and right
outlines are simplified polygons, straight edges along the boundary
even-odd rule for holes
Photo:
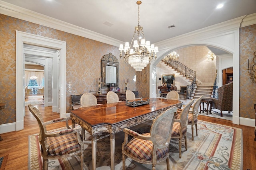
[[[138,90],[139,97],[149,97],[149,66],[136,72],[118,57],[118,47],[0,14],[0,102],[7,103],[7,108],[0,113],[0,124],[15,122],[16,102],[23,102],[16,101],[16,30],[66,41],[67,112],[71,109],[71,94],[97,91],[95,78],[100,77],[100,61],[108,53],[119,60],[120,88],[125,89],[123,78],[129,78],[128,90]],[[252,119],[256,86],[249,80],[246,61],[252,61],[255,37],[256,25],[240,29],[240,117]]]

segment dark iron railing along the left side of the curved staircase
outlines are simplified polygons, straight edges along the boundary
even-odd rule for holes
[[[183,74],[190,80],[192,80],[191,84],[187,86],[187,99],[191,98],[191,95],[193,93],[193,90],[196,86],[196,72],[184,64],[180,63],[179,61],[173,60],[173,59],[167,59],[166,57],[162,59],[162,61],[167,64],[168,66],[174,68],[174,70],[180,72],[180,74]]]

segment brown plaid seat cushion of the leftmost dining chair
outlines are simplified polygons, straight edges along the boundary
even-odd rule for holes
[[[70,154],[80,150],[80,144],[77,141],[75,133],[58,137],[49,137],[46,140],[47,143],[50,144],[47,154],[51,156]]]

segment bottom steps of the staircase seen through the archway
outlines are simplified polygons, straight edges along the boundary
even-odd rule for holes
[[[198,99],[200,96],[204,96],[204,98],[211,98],[213,92],[213,86],[204,86],[198,85],[195,91],[193,92],[193,99]]]

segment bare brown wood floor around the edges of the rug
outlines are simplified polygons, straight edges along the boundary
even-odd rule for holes
[[[49,121],[59,117],[58,113],[52,112],[52,107],[44,107],[44,105],[36,106],[42,113],[44,121]],[[8,154],[6,170],[27,170],[28,169],[28,135],[33,135],[39,132],[39,127],[36,119],[26,106],[26,116],[24,117],[24,129],[10,133],[1,134],[3,141],[0,141],[0,156]],[[211,118],[199,115],[198,119],[213,123],[220,123],[243,129],[243,170],[256,170],[256,141],[254,141],[254,128],[242,125],[234,125],[231,121]],[[70,121],[71,125],[71,121]],[[48,130],[64,127],[64,123],[59,123],[58,126],[48,126]]]

